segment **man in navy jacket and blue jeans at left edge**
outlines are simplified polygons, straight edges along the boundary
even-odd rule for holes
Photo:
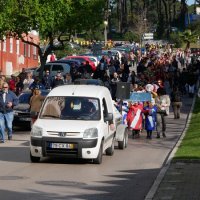
[[[5,142],[5,128],[8,130],[8,140],[12,140],[13,106],[18,105],[18,103],[18,97],[9,90],[8,83],[3,83],[0,92],[0,136],[3,143]]]

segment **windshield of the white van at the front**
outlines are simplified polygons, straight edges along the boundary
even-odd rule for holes
[[[90,97],[47,97],[41,119],[100,120],[99,99]]]

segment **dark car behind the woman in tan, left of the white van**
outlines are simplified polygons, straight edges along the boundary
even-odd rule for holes
[[[49,90],[41,90],[41,95],[47,96]],[[31,125],[31,116],[30,116],[30,98],[32,96],[32,92],[24,91],[19,95],[19,104],[14,106],[14,120],[13,125],[18,126],[22,125],[22,123],[26,123],[26,125]]]

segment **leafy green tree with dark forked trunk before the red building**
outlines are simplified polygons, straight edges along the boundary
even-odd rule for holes
[[[94,29],[101,23],[103,5],[103,0],[0,0],[0,36],[18,37],[37,47],[43,69],[50,52],[64,49],[64,42],[76,30]],[[32,30],[39,32],[39,44],[29,37]]]

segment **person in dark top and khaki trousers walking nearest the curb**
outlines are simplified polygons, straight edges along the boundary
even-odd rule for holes
[[[174,112],[174,119],[179,119],[180,109],[182,106],[182,94],[179,91],[178,87],[176,86],[173,87],[170,97],[171,97],[172,108]]]

